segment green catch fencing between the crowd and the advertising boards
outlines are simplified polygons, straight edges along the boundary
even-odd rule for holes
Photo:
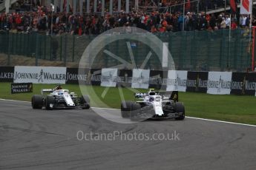
[[[168,50],[174,59],[176,69],[191,71],[237,71],[246,72],[252,65],[252,38],[249,30],[202,30],[157,33],[158,38],[168,43]],[[39,33],[0,33],[0,53],[8,56],[7,65],[17,65],[19,57],[35,59],[35,65],[42,61],[61,61],[78,64],[88,44],[96,35],[42,35]],[[151,49],[140,41],[108,41],[96,56],[91,68],[114,67],[119,62],[103,52],[108,50],[131,63],[128,42],[140,66]],[[150,42],[149,42],[150,43]],[[14,57],[15,56],[15,57]],[[77,65],[76,65],[77,67]],[[160,69],[157,54],[152,52],[146,69]]]

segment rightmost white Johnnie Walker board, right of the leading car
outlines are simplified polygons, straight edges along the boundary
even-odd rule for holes
[[[229,95],[231,92],[232,72],[209,72],[207,93]]]

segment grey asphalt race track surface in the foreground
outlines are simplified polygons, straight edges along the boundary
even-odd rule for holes
[[[78,140],[79,131],[115,138]],[[180,140],[124,139],[134,132],[176,133]],[[0,101],[0,169],[256,169],[256,127],[191,118],[123,124],[91,109]]]

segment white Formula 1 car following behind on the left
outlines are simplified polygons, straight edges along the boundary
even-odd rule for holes
[[[62,86],[57,85],[53,89],[42,89],[41,95],[33,95],[31,99],[33,109],[47,110],[51,109],[89,109],[90,99],[88,95],[79,97],[74,92],[69,92],[68,89],[62,89]]]

